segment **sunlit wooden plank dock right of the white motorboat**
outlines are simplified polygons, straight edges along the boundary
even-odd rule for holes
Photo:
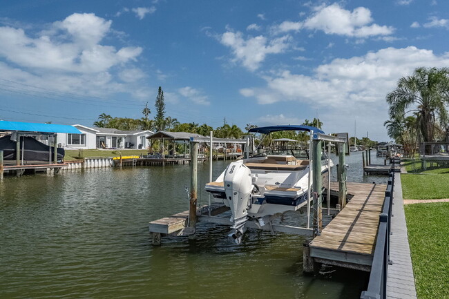
[[[338,190],[338,184],[331,189]],[[314,262],[370,271],[385,190],[385,185],[347,183],[350,202],[308,245]]]

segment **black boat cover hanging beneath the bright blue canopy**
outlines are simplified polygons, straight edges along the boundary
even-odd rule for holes
[[[17,142],[11,140],[11,136],[0,137],[0,151],[3,151],[4,160],[17,160],[16,158],[16,144]],[[55,149],[50,146],[38,142],[33,137],[20,137],[20,160],[22,160],[22,146],[23,146],[23,161],[51,161]],[[64,158],[64,148],[57,149],[57,162],[62,162]]]

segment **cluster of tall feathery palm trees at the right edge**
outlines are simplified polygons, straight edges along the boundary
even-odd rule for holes
[[[384,123],[395,142],[413,157],[421,142],[448,141],[449,68],[416,68],[386,96]]]

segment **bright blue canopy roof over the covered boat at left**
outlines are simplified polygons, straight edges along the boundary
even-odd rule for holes
[[[6,122],[0,121],[0,131],[23,133],[71,133],[81,134],[74,126],[66,124],[37,124],[32,122]]]

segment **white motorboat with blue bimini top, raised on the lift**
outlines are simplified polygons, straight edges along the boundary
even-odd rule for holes
[[[270,217],[286,211],[297,211],[307,205],[313,191],[312,169],[308,148],[274,147],[270,133],[278,131],[307,131],[322,133],[312,126],[267,126],[251,128],[249,133],[265,136],[259,147],[242,160],[231,162],[214,182],[209,182],[205,190],[213,195],[213,202],[229,206],[231,236],[240,244],[246,231],[246,222],[258,222],[264,226]],[[321,160],[323,186],[328,179],[328,163],[332,161],[325,153]],[[313,161],[312,161],[313,162]],[[310,188],[309,188],[310,186]]]

